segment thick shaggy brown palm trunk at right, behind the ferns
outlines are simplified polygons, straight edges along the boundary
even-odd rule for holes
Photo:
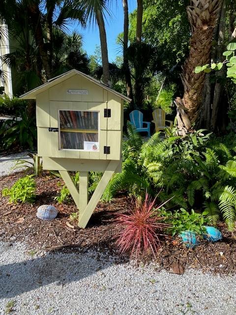
[[[213,29],[217,23],[222,0],[190,0],[187,7],[192,29],[189,57],[183,65],[181,80],[183,97],[175,100],[177,106],[177,125],[182,133],[191,129],[195,123],[204,87],[205,73],[194,73],[198,65],[209,63]]]

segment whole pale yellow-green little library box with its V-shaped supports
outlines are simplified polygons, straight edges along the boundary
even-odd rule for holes
[[[21,96],[36,99],[38,155],[58,170],[86,227],[115,172],[121,171],[124,96],[87,74],[70,70]],[[79,171],[79,191],[68,171]],[[88,172],[104,172],[88,201]]]

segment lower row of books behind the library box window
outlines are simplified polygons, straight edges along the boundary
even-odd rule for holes
[[[98,133],[60,132],[60,148],[84,150],[84,141],[98,142]]]

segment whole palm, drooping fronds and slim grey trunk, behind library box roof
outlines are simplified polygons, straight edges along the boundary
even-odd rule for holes
[[[89,24],[96,21],[100,34],[101,52],[102,52],[102,68],[103,68],[103,82],[111,86],[108,49],[107,49],[107,36],[104,23],[105,12],[109,14],[106,0],[75,0],[82,11],[86,12],[86,18]]]

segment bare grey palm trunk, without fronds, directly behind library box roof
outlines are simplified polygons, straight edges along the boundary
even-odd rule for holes
[[[101,51],[102,51],[102,70],[103,70],[103,82],[107,86],[111,87],[109,61],[107,51],[107,36],[105,30],[105,24],[102,13],[96,13],[96,20],[99,28]]]

